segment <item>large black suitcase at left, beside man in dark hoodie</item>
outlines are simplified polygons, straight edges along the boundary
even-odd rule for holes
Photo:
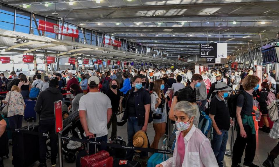
[[[29,121],[33,126],[29,126]],[[20,130],[39,131],[39,125],[34,125],[34,119],[28,119],[28,125]],[[40,159],[39,135],[15,132],[12,140],[12,164],[14,167],[28,167]]]

